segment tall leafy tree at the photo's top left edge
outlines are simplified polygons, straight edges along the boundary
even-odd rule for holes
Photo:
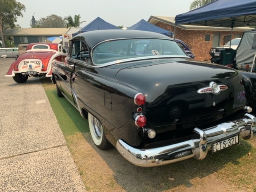
[[[25,10],[25,5],[16,2],[16,0],[0,0],[0,33],[3,47],[5,47],[3,30],[14,28],[17,18],[20,16],[23,17],[22,11],[25,12]]]

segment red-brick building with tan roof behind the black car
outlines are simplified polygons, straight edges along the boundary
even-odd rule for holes
[[[177,25],[175,30],[174,17],[151,16],[148,22],[168,31],[175,31],[175,38],[184,41],[196,56],[196,60],[209,61],[209,50],[212,47],[223,46],[230,39],[239,38],[249,27],[231,28]]]

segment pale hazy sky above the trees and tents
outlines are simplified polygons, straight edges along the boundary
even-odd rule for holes
[[[16,24],[30,28],[34,15],[36,20],[52,14],[62,18],[80,14],[80,27],[88,25],[97,17],[115,26],[129,27],[150,16],[175,17],[189,11],[193,0],[16,0],[26,7],[23,17]]]

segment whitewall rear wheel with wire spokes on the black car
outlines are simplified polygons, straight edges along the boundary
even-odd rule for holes
[[[88,113],[88,122],[89,122],[91,137],[93,139],[94,144],[98,148],[103,150],[110,148],[111,144],[106,139],[101,122],[90,113]]]

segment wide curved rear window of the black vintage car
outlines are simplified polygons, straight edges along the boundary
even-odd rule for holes
[[[133,58],[188,57],[180,46],[172,40],[165,39],[122,39],[105,41],[92,51],[96,65],[120,63]]]

